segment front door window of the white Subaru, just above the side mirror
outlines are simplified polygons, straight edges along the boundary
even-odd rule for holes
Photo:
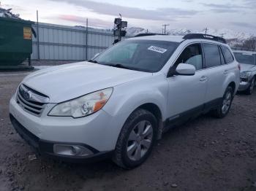
[[[192,44],[185,48],[176,61],[178,63],[189,63],[195,66],[195,69],[202,69],[203,54],[200,44]]]

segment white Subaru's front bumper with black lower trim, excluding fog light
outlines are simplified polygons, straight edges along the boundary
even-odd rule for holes
[[[37,152],[61,157],[61,159],[87,160],[110,155],[116,147],[118,134],[122,127],[120,117],[114,117],[103,109],[88,117],[49,117],[48,112],[56,104],[48,104],[40,117],[26,112],[15,100],[10,100],[10,118],[20,136],[29,142]],[[87,156],[68,156],[56,154],[56,144],[80,145],[92,152]]]

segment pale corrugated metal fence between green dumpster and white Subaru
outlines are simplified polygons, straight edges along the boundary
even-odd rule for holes
[[[36,29],[37,25],[32,27]],[[37,38],[39,39],[34,37],[32,39],[31,59],[34,60],[40,58],[42,60],[83,61],[110,47],[114,41],[112,31],[95,28],[88,28],[88,33],[86,33],[86,27],[39,23],[38,29]]]

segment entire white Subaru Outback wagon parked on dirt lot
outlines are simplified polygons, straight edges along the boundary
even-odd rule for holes
[[[30,74],[10,100],[10,120],[41,154],[134,168],[168,128],[206,112],[225,117],[239,79],[225,39],[138,36]]]

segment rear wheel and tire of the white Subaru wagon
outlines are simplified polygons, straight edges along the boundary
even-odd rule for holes
[[[217,109],[214,109],[212,111],[212,114],[214,115],[214,117],[223,118],[228,114],[233,101],[233,91],[234,90],[232,87],[230,86],[227,87],[222,98],[222,104],[220,104],[217,107]]]

